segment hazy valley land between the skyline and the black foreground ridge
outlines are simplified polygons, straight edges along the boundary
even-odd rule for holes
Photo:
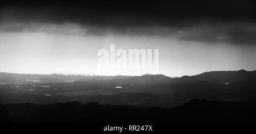
[[[159,107],[160,111],[157,112],[161,113],[165,111],[164,109],[180,106],[185,106],[187,110],[193,110],[201,102],[197,103],[192,100],[205,100],[204,103],[214,102],[216,107],[220,102],[229,102],[225,105],[232,104],[237,109],[240,109],[241,105],[236,106],[236,103],[247,103],[249,108],[246,107],[246,109],[251,112],[250,109],[254,110],[256,103],[255,77],[256,71],[245,70],[212,71],[195,76],[175,78],[148,74],[142,76],[82,76],[2,72],[0,73],[1,112],[8,111],[7,107],[19,105],[8,105],[10,103],[27,103],[20,104],[22,107],[26,105],[51,107],[59,106],[60,103],[67,106],[87,106],[87,103],[94,102],[99,105],[93,104],[93,106],[115,105],[118,107],[119,105],[122,107],[126,105],[137,107],[134,109],[139,109],[139,111],[143,111],[143,109],[150,111],[151,107]],[[191,101],[195,107],[188,108],[187,103],[191,103]],[[55,105],[53,105],[54,103]],[[24,110],[22,107],[19,109]],[[201,108],[205,109],[205,107]],[[13,112],[15,113],[15,110]],[[225,110],[223,112],[225,113]],[[135,115],[137,116],[137,114]],[[14,116],[16,115],[14,114]],[[34,122],[35,120],[27,121]]]

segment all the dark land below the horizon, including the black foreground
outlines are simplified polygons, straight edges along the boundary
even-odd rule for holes
[[[2,119],[10,122],[91,122],[92,120],[88,121],[87,119],[93,118],[96,116],[94,114],[98,112],[101,113],[100,116],[106,116],[108,112],[103,109],[110,110],[117,115],[119,110],[130,111],[129,109],[132,109],[127,116],[122,115],[127,122],[132,120],[129,119],[129,116],[143,115],[141,119],[135,120],[134,117],[134,121],[145,120],[147,116],[150,116],[148,114],[153,111],[160,114],[161,118],[166,116],[172,121],[158,120],[158,116],[154,116],[148,122],[156,122],[157,120],[157,122],[182,122],[180,114],[176,114],[180,117],[169,114],[189,111],[189,113],[196,113],[199,116],[197,118],[200,118],[201,110],[207,111],[203,115],[208,116],[208,118],[211,116],[208,115],[210,113],[221,118],[204,119],[202,122],[254,122],[255,120],[252,118],[254,114],[247,115],[251,118],[232,114],[230,115],[231,120],[227,120],[225,113],[232,112],[232,109],[236,109],[238,114],[248,114],[255,111],[255,77],[256,71],[245,70],[212,71],[195,76],[175,78],[148,74],[142,76],[82,76],[1,73],[0,102],[2,105],[0,107]],[[28,109],[24,107],[28,107]],[[88,108],[80,109],[79,107]],[[71,110],[74,115],[62,109]],[[80,114],[84,116],[86,112],[82,112],[82,109],[93,109],[88,111],[92,116],[84,117],[87,121],[74,117]],[[23,114],[20,113],[20,110]],[[49,119],[44,117],[48,113],[45,110],[53,113],[59,111],[59,113],[68,115],[61,114],[57,117],[53,114],[52,116],[55,117],[50,120],[50,117],[48,117]],[[100,111],[94,112],[94,110]],[[210,113],[208,113],[209,111]],[[34,116],[28,112],[41,114]],[[168,115],[164,113],[168,113]],[[184,122],[192,122],[192,116],[194,115],[189,115],[187,118],[182,116],[182,119]],[[38,120],[36,121],[34,118],[38,118]],[[161,118],[159,117],[159,119]],[[106,120],[121,122],[118,119],[97,118],[92,122],[105,122]],[[122,122],[126,122],[125,120]]]

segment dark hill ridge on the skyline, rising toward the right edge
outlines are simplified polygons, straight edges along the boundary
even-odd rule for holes
[[[208,81],[216,83],[231,83],[236,81],[256,80],[256,71],[210,71],[199,75],[168,77],[165,75],[142,75],[122,79],[112,79],[115,83],[150,83],[150,84],[171,84],[171,83],[195,83],[197,81]]]

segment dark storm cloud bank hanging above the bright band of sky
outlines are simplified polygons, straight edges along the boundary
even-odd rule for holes
[[[3,2],[0,8],[1,31],[70,33],[75,28],[71,33],[171,35],[233,44],[256,43],[255,16],[253,1],[23,1]]]

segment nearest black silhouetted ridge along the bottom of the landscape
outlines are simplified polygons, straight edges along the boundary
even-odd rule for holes
[[[172,109],[79,102],[0,106],[1,122],[256,122],[255,103],[192,100]]]

